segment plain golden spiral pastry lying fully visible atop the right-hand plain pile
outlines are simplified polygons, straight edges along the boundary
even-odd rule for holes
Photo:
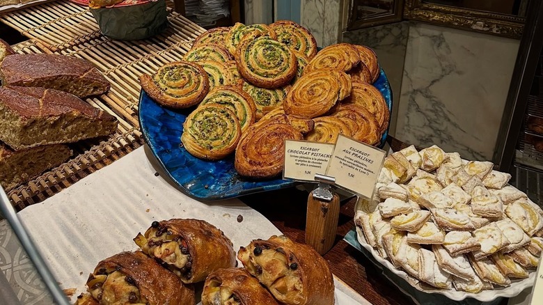
[[[283,107],[287,114],[316,118],[349,95],[351,79],[345,72],[333,69],[304,73],[289,91]]]

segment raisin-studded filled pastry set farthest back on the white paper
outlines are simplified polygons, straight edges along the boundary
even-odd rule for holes
[[[223,231],[200,219],[153,221],[134,242],[183,283],[204,281],[215,270],[236,265],[232,242]]]

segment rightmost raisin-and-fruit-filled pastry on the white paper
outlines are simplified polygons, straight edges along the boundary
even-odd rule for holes
[[[253,240],[237,258],[283,304],[334,304],[333,277],[326,260],[285,235]]]

